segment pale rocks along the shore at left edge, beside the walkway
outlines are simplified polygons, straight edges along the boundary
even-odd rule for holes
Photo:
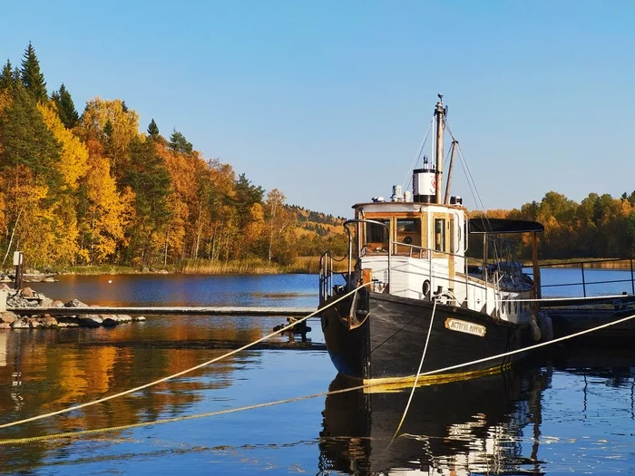
[[[33,309],[33,314],[24,316],[12,311],[0,313],[0,329],[24,329],[24,328],[64,328],[64,327],[112,327],[129,322],[141,322],[145,320],[143,316],[127,315],[99,315],[83,314],[74,315],[73,307],[90,307],[82,301],[73,299],[67,303],[51,299],[41,293],[35,292],[30,287],[23,289],[12,289],[5,283],[0,284],[0,292],[6,293],[6,307],[19,307],[21,309]],[[68,315],[51,316],[44,312],[48,307],[68,307]],[[38,311],[39,309],[39,311]]]

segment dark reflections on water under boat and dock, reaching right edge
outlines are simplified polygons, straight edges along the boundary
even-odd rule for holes
[[[549,445],[544,446],[542,426],[547,421],[542,422],[542,415],[549,414],[543,407],[554,398],[555,375],[559,385],[569,375],[576,387],[563,422],[577,426],[588,414],[598,413],[600,403],[593,399],[601,394],[599,388],[630,392],[630,409],[622,408],[617,397],[601,404],[613,405],[616,412],[635,419],[635,350],[566,348],[501,374],[417,388],[400,435],[392,443],[409,390],[327,396],[319,441],[320,474],[543,474],[553,469],[546,461],[551,453],[545,452]],[[329,390],[347,386],[337,376]],[[629,423],[622,424],[626,428]],[[588,431],[594,435],[596,430]]]

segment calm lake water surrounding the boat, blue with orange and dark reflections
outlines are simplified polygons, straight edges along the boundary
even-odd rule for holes
[[[567,273],[572,270],[549,270],[543,283],[574,281]],[[588,272],[587,279],[589,273],[595,280],[612,280],[600,278],[610,276],[604,271]],[[318,304],[318,277],[308,275],[62,277],[32,287],[64,301],[112,306]],[[551,296],[573,292],[553,289]],[[608,289],[614,292],[612,285]],[[146,322],[114,328],[0,332],[0,424],[178,373],[283,323],[281,317],[147,316]],[[306,343],[277,336],[269,345],[138,393],[1,429],[0,439],[195,416],[343,388],[318,320],[309,325]],[[504,374],[422,387],[401,435],[391,441],[407,397],[321,394],[174,423],[5,444],[0,473],[635,472],[632,348],[570,346]]]

